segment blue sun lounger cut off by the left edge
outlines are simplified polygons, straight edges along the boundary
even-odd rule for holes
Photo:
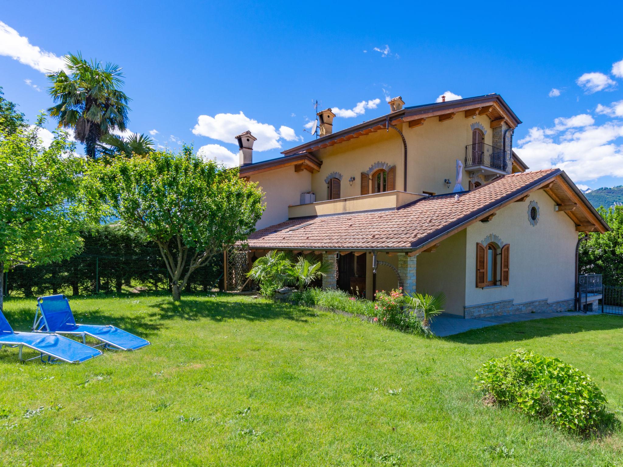
[[[0,313],[0,348],[2,346],[19,347],[19,359],[29,361],[47,356],[48,363],[58,363],[63,361],[68,363],[80,363],[90,358],[102,355],[102,352],[93,347],[85,346],[80,342],[72,341],[67,337],[58,334],[36,334],[36,333],[15,333],[4,318],[4,314]],[[39,352],[39,356],[24,360],[22,358],[22,349],[28,347]]]

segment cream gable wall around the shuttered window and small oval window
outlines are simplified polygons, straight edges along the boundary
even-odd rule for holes
[[[535,200],[540,208],[535,227],[528,220],[530,200]],[[510,299],[523,303],[573,298],[578,234],[569,216],[555,212],[554,206],[554,201],[544,191],[537,190],[525,202],[514,202],[500,209],[491,222],[476,222],[467,227],[466,305]],[[510,284],[476,288],[476,243],[489,234],[510,243]]]

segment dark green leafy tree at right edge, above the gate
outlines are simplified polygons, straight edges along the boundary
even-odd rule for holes
[[[597,209],[612,229],[605,234],[592,232],[580,243],[581,274],[602,274],[604,285],[623,287],[623,207]]]

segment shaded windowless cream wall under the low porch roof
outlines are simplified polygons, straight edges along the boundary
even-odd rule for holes
[[[416,290],[435,294],[442,291],[447,300],[445,313],[463,315],[465,305],[465,242],[467,230],[446,238],[434,253],[417,255]]]

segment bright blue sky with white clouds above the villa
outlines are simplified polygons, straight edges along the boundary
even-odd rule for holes
[[[254,160],[310,139],[315,99],[340,109],[339,130],[386,113],[386,97],[497,92],[532,169],[623,184],[623,7],[550,3],[10,2],[0,86],[33,121],[51,103],[42,70],[80,50],[123,67],[131,131],[224,160],[249,127]]]

